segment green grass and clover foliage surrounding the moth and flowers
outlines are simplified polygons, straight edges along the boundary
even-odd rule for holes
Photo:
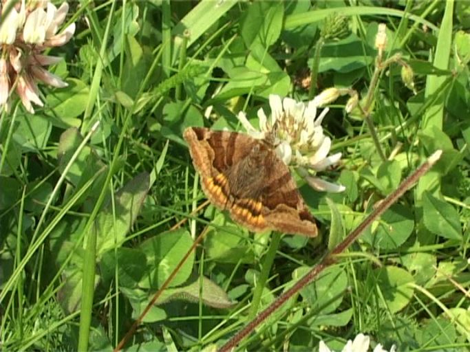
[[[71,3],[76,34],[54,49],[65,57],[54,73],[69,86],[44,88],[35,115],[18,105],[0,120],[1,347],[116,347],[203,230],[127,347],[220,347],[253,314],[256,289],[255,314],[440,148],[414,190],[238,348],[341,349],[361,332],[400,351],[468,348],[469,3],[352,3]],[[340,14],[345,25],[324,36]],[[323,126],[343,158],[324,177],[347,189],[299,184],[320,235],[282,237],[259,287],[270,234],[249,234],[213,206],[191,214],[204,195],[182,131],[241,131],[237,112],[256,124],[269,94],[308,100],[301,83],[320,39],[312,89],[352,87],[363,99],[378,23],[385,57],[401,54],[416,89],[391,65],[372,91],[388,159],[361,113],[344,112],[347,97],[330,106]]]

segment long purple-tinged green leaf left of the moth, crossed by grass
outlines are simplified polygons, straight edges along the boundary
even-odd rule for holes
[[[96,217],[94,228],[97,232],[96,252],[100,256],[107,250],[120,245],[140,212],[149,190],[149,175],[141,173],[127,182],[114,196],[113,204]]]

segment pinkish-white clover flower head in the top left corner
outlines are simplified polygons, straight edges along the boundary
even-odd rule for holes
[[[5,20],[0,23],[0,106],[6,111],[10,109],[13,90],[25,109],[34,113],[32,103],[43,106],[37,83],[58,88],[67,86],[60,77],[44,68],[62,58],[41,53],[50,47],[64,45],[74,35],[74,23],[58,33],[68,10],[66,2],[56,8],[50,1],[26,4],[21,0],[10,8],[8,1],[1,0],[0,11]]]

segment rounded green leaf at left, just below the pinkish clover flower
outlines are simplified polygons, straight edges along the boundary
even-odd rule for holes
[[[13,133],[13,140],[23,150],[41,151],[45,148],[52,130],[52,124],[41,115],[21,115],[19,124]]]

